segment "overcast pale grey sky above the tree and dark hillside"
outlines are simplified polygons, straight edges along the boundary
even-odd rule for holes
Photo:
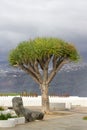
[[[87,51],[87,0],[0,0],[0,55],[34,37],[58,37]]]

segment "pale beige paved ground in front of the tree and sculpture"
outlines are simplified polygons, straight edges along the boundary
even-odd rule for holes
[[[14,128],[0,128],[0,130],[87,130],[87,120],[82,118],[85,113],[73,113],[65,116],[47,116],[43,121],[17,125]]]

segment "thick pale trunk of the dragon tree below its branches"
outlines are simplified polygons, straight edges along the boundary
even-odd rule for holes
[[[41,85],[42,94],[42,112],[49,113],[49,96],[48,96],[48,85]]]

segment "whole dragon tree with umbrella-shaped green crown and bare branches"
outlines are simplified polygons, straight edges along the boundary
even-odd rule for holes
[[[42,111],[49,112],[49,84],[64,64],[76,62],[75,46],[58,38],[35,38],[23,41],[11,50],[9,62],[28,73],[39,85]],[[49,71],[51,65],[51,70]]]

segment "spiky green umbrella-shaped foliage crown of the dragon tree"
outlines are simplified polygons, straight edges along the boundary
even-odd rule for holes
[[[20,43],[10,52],[9,61],[11,65],[18,65],[35,60],[42,61],[54,55],[70,61],[79,59],[78,52],[72,44],[57,38],[36,38]]]

